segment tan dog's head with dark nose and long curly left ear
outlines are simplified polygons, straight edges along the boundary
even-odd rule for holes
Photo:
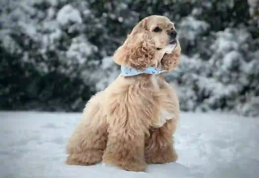
[[[168,45],[177,45],[174,23],[164,16],[149,16],[137,24],[113,58],[119,65],[143,69],[156,63],[154,56]]]

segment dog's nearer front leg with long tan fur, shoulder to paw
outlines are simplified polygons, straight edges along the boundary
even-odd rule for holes
[[[113,90],[114,91],[114,90]],[[144,157],[145,134],[151,122],[146,103],[136,88],[117,91],[109,98],[107,123],[108,142],[103,162],[128,171],[144,171],[147,164]],[[148,105],[148,104],[147,104]]]

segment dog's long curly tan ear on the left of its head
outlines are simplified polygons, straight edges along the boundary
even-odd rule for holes
[[[114,62],[138,70],[154,65],[156,48],[147,30],[147,20],[143,19],[133,28],[124,44],[115,51]]]

